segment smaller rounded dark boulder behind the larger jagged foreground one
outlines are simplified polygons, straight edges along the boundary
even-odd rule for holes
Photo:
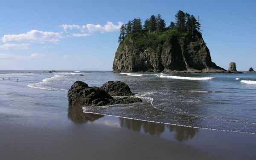
[[[111,96],[132,96],[129,86],[122,81],[108,81],[104,83],[101,89],[105,90]]]

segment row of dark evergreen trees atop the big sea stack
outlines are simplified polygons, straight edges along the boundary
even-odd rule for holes
[[[178,29],[179,32],[187,32],[191,35],[194,32],[201,31],[201,24],[198,16],[198,20],[194,15],[189,15],[189,13],[184,13],[183,11],[178,11],[175,15],[175,22],[171,22],[168,27],[166,27],[166,21],[162,18],[160,14],[157,16],[151,15],[151,17],[145,20],[144,24],[140,18],[134,18],[129,20],[126,24],[120,27],[120,34],[118,37],[119,44],[124,41],[125,37],[132,32],[163,32],[168,29]],[[200,32],[201,33],[201,32]]]

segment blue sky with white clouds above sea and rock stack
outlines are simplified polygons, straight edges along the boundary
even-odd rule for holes
[[[112,70],[119,27],[200,16],[212,61],[256,70],[255,0],[0,0],[0,70]]]

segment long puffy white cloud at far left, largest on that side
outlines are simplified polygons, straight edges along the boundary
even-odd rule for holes
[[[53,42],[57,43],[60,38],[64,38],[61,33],[58,32],[43,32],[38,30],[31,30],[19,35],[4,35],[3,42],[8,41],[29,41],[29,42]]]

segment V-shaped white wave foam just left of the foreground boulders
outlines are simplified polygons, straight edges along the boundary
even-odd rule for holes
[[[56,91],[65,91],[67,92],[67,89],[60,89],[60,88],[55,88],[55,87],[49,87],[47,86],[47,84],[52,84],[53,82],[60,82],[62,81],[62,79],[66,77],[66,76],[59,76],[59,75],[55,75],[53,77],[47,78],[47,79],[43,79],[41,82],[39,83],[35,83],[35,84],[28,84],[28,87],[31,88],[38,88],[38,89],[44,89],[44,90],[56,90]]]

